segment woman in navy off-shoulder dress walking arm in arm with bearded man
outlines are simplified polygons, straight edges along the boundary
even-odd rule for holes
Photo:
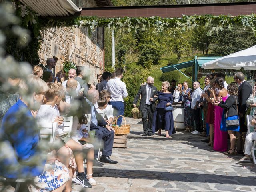
[[[162,90],[158,91],[158,104],[153,116],[152,131],[153,133],[158,131],[158,135],[161,135],[161,130],[166,130],[166,138],[176,133],[174,129],[174,121],[172,111],[167,111],[166,107],[172,105],[173,97],[172,93],[168,91],[170,83],[168,81],[162,82]]]

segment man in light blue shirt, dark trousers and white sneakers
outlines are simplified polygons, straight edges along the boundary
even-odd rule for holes
[[[192,116],[194,118],[194,121],[196,123],[196,130],[192,132],[194,135],[199,135],[201,132],[201,121],[200,121],[200,107],[198,104],[200,103],[201,95],[203,90],[200,88],[200,83],[195,81],[193,83],[194,92],[192,95],[188,95],[191,101],[191,110],[192,110]]]

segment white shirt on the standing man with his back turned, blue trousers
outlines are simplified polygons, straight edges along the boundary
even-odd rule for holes
[[[108,81],[107,90],[111,93],[110,101],[124,102],[123,98],[128,96],[126,84],[118,77]]]

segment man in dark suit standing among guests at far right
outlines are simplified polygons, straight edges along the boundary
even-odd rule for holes
[[[244,79],[244,74],[237,72],[234,76],[234,81],[238,84],[238,114],[240,117],[240,132],[247,132],[245,122],[246,101],[252,94],[252,86]]]

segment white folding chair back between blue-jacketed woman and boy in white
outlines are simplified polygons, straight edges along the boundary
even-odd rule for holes
[[[54,142],[54,134],[58,127],[57,122],[40,122],[38,123],[40,128],[40,135],[43,139],[49,139],[50,143]]]

